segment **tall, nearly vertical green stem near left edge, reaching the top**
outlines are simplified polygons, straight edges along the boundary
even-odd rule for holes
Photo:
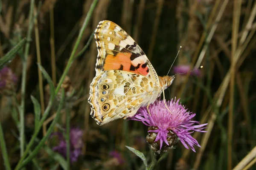
[[[23,156],[24,146],[25,146],[25,125],[24,125],[24,113],[25,113],[25,94],[26,94],[26,69],[27,69],[27,59],[29,55],[29,46],[33,28],[33,9],[34,9],[35,0],[30,1],[30,10],[29,10],[29,27],[26,36],[26,46],[22,61],[22,80],[21,80],[21,102],[20,102],[20,157]]]

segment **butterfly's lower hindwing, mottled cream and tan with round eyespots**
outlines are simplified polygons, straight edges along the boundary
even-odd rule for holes
[[[140,74],[108,70],[91,84],[89,102],[91,116],[99,125],[114,119],[133,116],[142,105],[147,105],[152,91],[150,80]]]

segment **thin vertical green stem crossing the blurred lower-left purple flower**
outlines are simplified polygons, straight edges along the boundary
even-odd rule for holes
[[[66,106],[67,169],[70,169],[70,106]]]

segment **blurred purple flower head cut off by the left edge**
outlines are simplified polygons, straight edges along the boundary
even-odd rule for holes
[[[12,73],[12,70],[8,67],[4,67],[0,70],[0,92],[6,92],[14,90],[14,86],[17,83],[17,77]]]

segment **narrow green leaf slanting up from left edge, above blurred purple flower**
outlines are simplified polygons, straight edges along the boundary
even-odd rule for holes
[[[16,56],[15,54],[23,47],[25,43],[25,38],[21,40],[17,45],[11,49],[5,56],[0,59],[0,69],[2,69],[8,62],[11,62],[12,59]]]

